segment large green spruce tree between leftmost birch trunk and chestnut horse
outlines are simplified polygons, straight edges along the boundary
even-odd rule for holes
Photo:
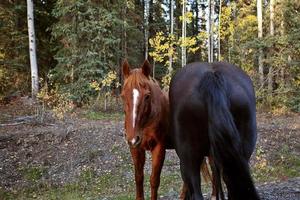
[[[116,67],[114,55],[120,40],[113,34],[120,24],[117,13],[92,1],[57,1],[53,15],[58,22],[52,28],[53,38],[60,41],[56,67],[50,80],[59,83],[62,92],[72,94],[75,102],[87,101],[93,80],[103,80]]]

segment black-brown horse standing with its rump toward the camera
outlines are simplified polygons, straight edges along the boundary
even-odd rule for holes
[[[185,199],[203,200],[199,167],[213,160],[217,199],[257,200],[249,172],[256,143],[255,95],[250,78],[228,63],[192,63],[170,85],[171,133],[187,185]]]

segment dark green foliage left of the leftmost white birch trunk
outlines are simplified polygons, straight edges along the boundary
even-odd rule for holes
[[[27,91],[26,2],[0,3],[0,32],[0,96],[16,90]]]

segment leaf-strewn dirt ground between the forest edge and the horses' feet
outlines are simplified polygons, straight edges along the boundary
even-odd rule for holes
[[[134,196],[121,120],[68,117],[59,121],[50,112],[38,117],[36,113],[24,99],[0,106],[0,199],[9,199],[9,193],[18,196],[33,184],[63,187],[78,180],[88,184],[93,182],[89,177],[98,181],[98,199]],[[300,115],[260,113],[257,121],[259,138],[251,166],[262,199],[300,199]],[[179,161],[172,150],[167,152],[162,179],[160,199],[178,199]]]

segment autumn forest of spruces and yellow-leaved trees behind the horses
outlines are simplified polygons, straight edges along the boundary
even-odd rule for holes
[[[0,6],[0,98],[28,95],[26,2]],[[150,60],[164,88],[185,63],[227,61],[251,76],[259,106],[299,111],[299,10],[296,0],[34,1],[39,99],[78,106],[118,94],[124,58]]]

